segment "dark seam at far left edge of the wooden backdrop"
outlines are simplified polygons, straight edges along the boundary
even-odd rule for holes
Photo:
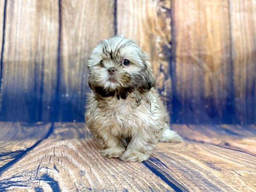
[[[5,37],[5,28],[6,28],[6,7],[7,7],[7,0],[4,1],[4,8],[3,8],[3,36],[2,36],[2,49],[1,49],[1,60],[0,60],[0,114],[2,112],[3,52],[4,52],[4,37]]]

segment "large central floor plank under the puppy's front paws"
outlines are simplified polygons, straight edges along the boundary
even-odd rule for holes
[[[53,134],[0,176],[0,190],[174,191],[142,163],[107,159],[84,123],[55,123]]]

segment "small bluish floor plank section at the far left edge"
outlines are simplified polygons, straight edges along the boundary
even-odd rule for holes
[[[12,161],[15,163],[15,159],[22,157],[29,148],[44,138],[50,125],[41,122],[0,122],[0,174],[4,165]]]

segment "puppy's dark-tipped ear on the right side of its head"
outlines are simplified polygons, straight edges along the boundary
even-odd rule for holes
[[[151,69],[151,64],[146,59],[143,60],[143,64],[145,68],[141,71],[141,79],[140,79],[140,87],[139,87],[140,92],[149,91],[156,84],[153,71]]]

